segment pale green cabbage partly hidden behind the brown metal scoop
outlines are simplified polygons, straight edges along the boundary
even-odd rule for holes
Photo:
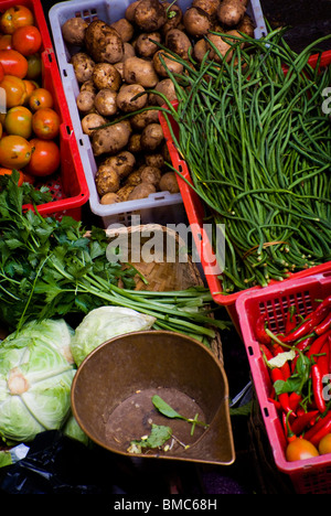
[[[149,330],[156,319],[121,307],[92,310],[76,327],[71,350],[77,366],[97,346],[125,333]]]

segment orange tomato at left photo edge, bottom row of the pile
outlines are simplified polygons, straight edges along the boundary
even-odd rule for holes
[[[8,135],[0,140],[0,165],[23,169],[31,159],[31,144],[25,138]]]

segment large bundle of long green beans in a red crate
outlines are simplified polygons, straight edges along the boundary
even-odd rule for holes
[[[331,123],[322,109],[331,71],[308,63],[323,39],[297,54],[281,30],[243,37],[244,47],[232,36],[231,60],[173,55],[184,71],[169,72],[174,142],[213,224],[225,228],[223,293],[331,258]]]

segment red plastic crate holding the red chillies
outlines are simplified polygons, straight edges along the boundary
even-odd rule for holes
[[[288,462],[285,456],[287,440],[275,405],[268,400],[271,383],[267,366],[255,338],[255,324],[266,313],[270,329],[284,331],[288,308],[295,304],[298,313],[307,315],[331,294],[331,267],[329,270],[301,279],[290,279],[255,292],[244,292],[236,301],[238,321],[247,352],[256,396],[279,471],[290,476],[299,494],[331,493],[331,453],[303,461]]]

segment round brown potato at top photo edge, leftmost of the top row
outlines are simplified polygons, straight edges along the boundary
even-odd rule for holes
[[[166,10],[159,0],[140,0],[135,9],[134,23],[142,32],[158,31],[166,21]]]

